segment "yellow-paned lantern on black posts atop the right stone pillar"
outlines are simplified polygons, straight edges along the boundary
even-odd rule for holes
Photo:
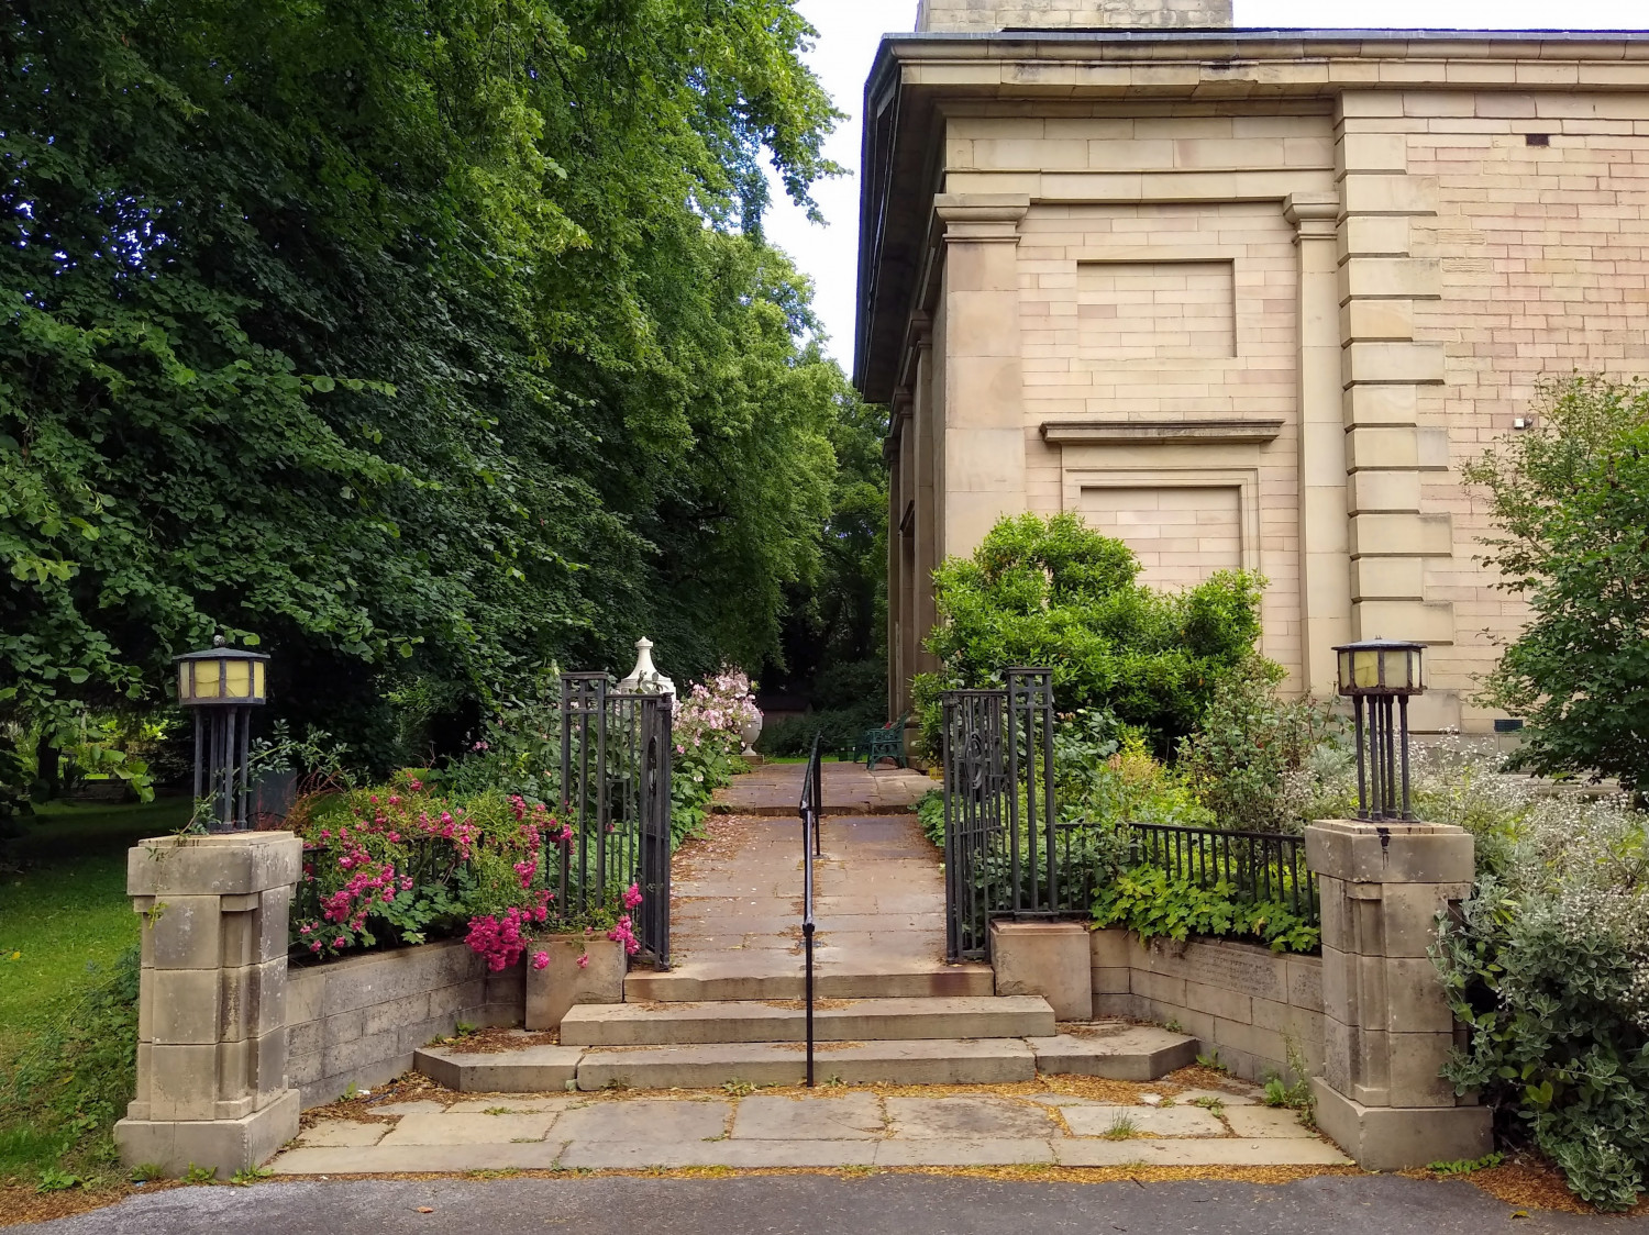
[[[1408,697],[1425,691],[1421,645],[1364,640],[1334,648],[1334,653],[1339,693],[1351,697],[1357,714],[1357,818],[1412,819]]]

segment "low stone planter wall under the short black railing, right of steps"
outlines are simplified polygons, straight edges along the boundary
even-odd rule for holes
[[[1095,930],[1093,1011],[1177,1022],[1243,1080],[1290,1075],[1288,1040],[1322,1068],[1322,961],[1232,940],[1141,942]]]

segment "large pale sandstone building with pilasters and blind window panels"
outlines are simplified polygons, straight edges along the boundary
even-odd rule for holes
[[[1560,15],[1562,10],[1553,10]],[[930,574],[1078,511],[1144,582],[1265,574],[1265,651],[1515,632],[1461,463],[1649,369],[1649,33],[1235,30],[1230,0],[923,0],[866,84],[856,383],[892,406],[889,693]]]

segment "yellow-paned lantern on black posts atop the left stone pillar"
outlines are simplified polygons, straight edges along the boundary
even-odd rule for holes
[[[195,714],[195,801],[213,805],[213,831],[244,831],[252,709],[265,702],[269,656],[224,646],[223,635],[204,651],[173,658],[178,704]]]

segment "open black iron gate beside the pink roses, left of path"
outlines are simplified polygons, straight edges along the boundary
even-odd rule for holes
[[[620,694],[605,673],[561,674],[561,905],[632,910],[641,950],[669,968],[669,694]]]

